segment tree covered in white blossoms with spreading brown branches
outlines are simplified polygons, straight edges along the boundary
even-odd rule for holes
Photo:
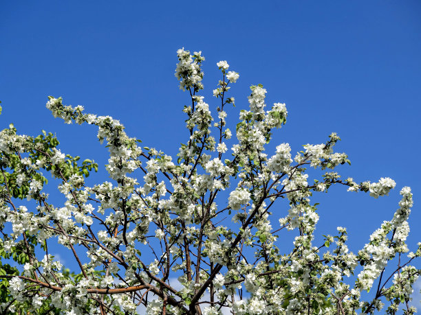
[[[190,104],[184,106],[188,139],[176,159],[140,148],[119,121],[85,114],[61,98],[47,102],[54,117],[95,125],[106,141],[109,182],[85,185],[98,165],[62,153],[52,134],[18,135],[12,125],[1,131],[1,312],[373,314],[387,303],[387,314],[414,314],[409,301],[420,270],[410,263],[421,248],[407,254],[411,189],[402,188],[393,218],[357,254],[349,252],[342,227],[314,244],[319,215],[312,194],[341,185],[378,198],[395,182],[356,183],[332,172],[349,163],[345,153],[333,152],[335,133],[323,144],[304,145],[294,159],[288,143],[266,154],[288,112],[281,103],[265,110],[261,84],[251,86],[237,141],[228,141],[226,107],[235,100],[227,94],[239,74],[217,63],[222,80],[213,91],[219,103],[213,117],[198,94],[204,57],[184,49],[177,56],[175,76]],[[230,154],[229,142],[236,142]],[[309,183],[306,167],[324,175]],[[45,172],[60,182],[62,205],[49,201]],[[290,253],[277,247],[282,233],[296,235]],[[48,253],[52,242],[68,250],[79,273]],[[11,259],[21,268],[10,266]],[[397,266],[385,269],[388,261]],[[363,291],[371,296],[363,298]]]

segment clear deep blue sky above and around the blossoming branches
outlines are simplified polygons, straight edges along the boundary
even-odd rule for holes
[[[356,252],[391,219],[409,185],[410,248],[421,241],[420,1],[2,1],[0,9],[0,128],[13,122],[23,134],[54,132],[63,152],[104,165],[94,128],[65,125],[45,108],[48,95],[63,96],[175,155],[187,137],[188,102],[173,74],[176,51],[202,50],[210,108],[216,62],[240,74],[229,126],[248,108],[251,84],[268,90],[267,104],[286,103],[288,123],[268,154],[282,142],[296,152],[337,132],[337,150],[352,161],[338,169],[345,178],[396,180],[377,200],[342,187],[316,196],[321,234],[346,226]],[[105,179],[102,172],[93,180]]]

